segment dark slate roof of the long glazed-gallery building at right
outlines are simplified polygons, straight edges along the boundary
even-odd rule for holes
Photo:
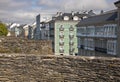
[[[117,11],[113,11],[83,19],[76,26],[97,25],[110,21],[115,21],[116,18],[117,18]]]

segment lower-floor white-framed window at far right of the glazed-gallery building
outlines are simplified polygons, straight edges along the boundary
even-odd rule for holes
[[[108,42],[107,42],[107,53],[111,54],[111,55],[116,55],[116,47],[117,47],[116,40],[108,40]]]

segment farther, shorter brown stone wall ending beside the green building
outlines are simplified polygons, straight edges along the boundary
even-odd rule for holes
[[[0,53],[53,54],[51,41],[0,37]]]

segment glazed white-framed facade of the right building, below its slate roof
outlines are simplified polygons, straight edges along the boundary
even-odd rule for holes
[[[117,55],[117,24],[78,27],[78,55]]]

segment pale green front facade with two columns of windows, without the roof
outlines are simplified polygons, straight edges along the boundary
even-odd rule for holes
[[[76,24],[78,22],[76,21],[56,21],[55,22],[55,54],[56,55],[75,55],[78,53],[77,50],[77,37],[76,37]],[[63,27],[64,30],[60,31],[60,27]],[[70,31],[70,27],[73,27],[73,31]],[[73,34],[73,38],[70,39],[70,33]],[[63,34],[63,38],[60,37],[60,35]],[[60,41],[63,41],[63,44],[60,44]],[[70,41],[73,41],[74,43],[70,46]],[[60,49],[63,49],[63,52],[60,51]],[[70,53],[70,48],[73,49],[73,52]],[[61,50],[62,50],[61,49]],[[61,53],[60,53],[61,52]]]

